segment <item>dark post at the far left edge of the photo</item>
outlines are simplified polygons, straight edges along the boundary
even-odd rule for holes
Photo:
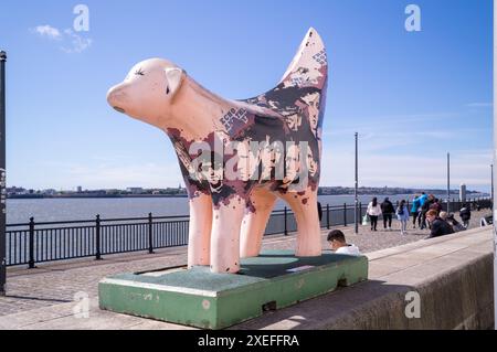
[[[6,61],[7,53],[0,51],[0,296],[6,296]]]

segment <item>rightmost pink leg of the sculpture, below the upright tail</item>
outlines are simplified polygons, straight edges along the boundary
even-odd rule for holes
[[[294,192],[281,194],[295,213],[297,221],[297,257],[317,257],[321,255],[321,230],[317,211],[317,191],[307,189],[305,194]]]

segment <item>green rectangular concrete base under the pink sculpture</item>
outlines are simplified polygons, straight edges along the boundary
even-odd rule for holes
[[[288,250],[242,260],[236,275],[208,267],[121,274],[98,284],[101,309],[203,329],[223,329],[368,278],[368,258]]]

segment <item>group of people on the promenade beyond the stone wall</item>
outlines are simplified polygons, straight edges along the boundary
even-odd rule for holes
[[[408,232],[408,222],[410,216],[413,217],[412,224],[413,228],[417,227],[424,230],[430,227],[430,237],[437,237],[454,232],[464,231],[469,226],[470,220],[470,209],[463,204],[463,209],[459,211],[461,220],[463,224],[459,224],[455,218],[454,214],[447,214],[442,211],[442,204],[438,199],[433,194],[426,195],[424,192],[422,194],[414,195],[411,211],[409,211],[405,200],[402,200],[396,207],[393,206],[389,198],[380,204],[377,198],[368,204],[367,216],[371,223],[371,231],[378,231],[378,218],[383,216],[383,228],[392,228],[393,215],[400,222],[400,232],[405,235]]]

